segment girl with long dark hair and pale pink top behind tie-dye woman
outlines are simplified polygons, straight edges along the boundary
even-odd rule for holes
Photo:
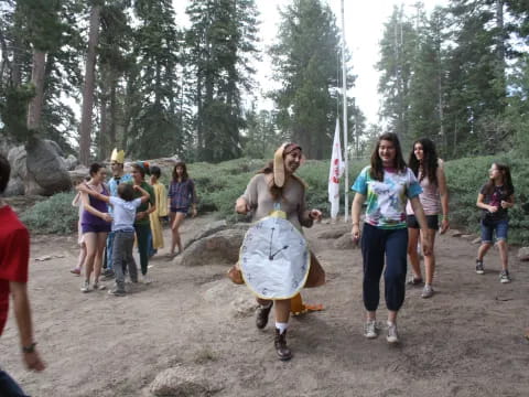
[[[433,272],[435,270],[435,256],[433,245],[439,229],[439,214],[442,213],[441,234],[449,227],[449,190],[444,175],[443,160],[438,158],[435,144],[428,138],[422,138],[413,143],[408,164],[419,180],[422,193],[419,195],[424,214],[427,215],[428,234],[432,255],[424,257],[424,288],[421,297],[430,298],[434,291],[432,288]],[[422,283],[421,264],[417,251],[419,245],[419,223],[413,214],[411,202],[406,206],[408,224],[408,255],[410,257],[412,273],[409,283],[420,286]]]

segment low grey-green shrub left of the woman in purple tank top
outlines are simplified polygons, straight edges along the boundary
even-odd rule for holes
[[[35,233],[71,234],[77,230],[78,208],[72,206],[75,193],[58,193],[36,203],[21,215]]]

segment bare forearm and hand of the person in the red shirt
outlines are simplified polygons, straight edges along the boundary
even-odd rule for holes
[[[45,365],[34,348],[33,326],[31,322],[30,299],[25,282],[9,282],[13,297],[14,316],[19,326],[20,344],[23,348],[23,360],[29,369],[43,371]]]

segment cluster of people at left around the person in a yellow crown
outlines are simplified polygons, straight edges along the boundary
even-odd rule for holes
[[[172,243],[170,257],[183,249],[180,227],[190,213],[196,215],[196,193],[184,162],[173,169],[169,187],[160,182],[159,167],[147,162],[131,164],[131,173],[125,173],[125,152],[114,150],[110,159],[112,176],[106,182],[106,169],[99,163],[89,168],[89,180],[77,185],[78,194],[73,205],[79,205],[78,243],[79,260],[71,271],[83,275],[83,292],[105,289],[102,277],[115,279],[109,293],[126,294],[126,275],[130,281],[139,281],[133,253],[134,242],[140,258],[141,281],[150,283],[149,258],[164,247],[162,223],[170,214]],[[149,183],[145,176],[150,175]],[[168,204],[169,203],[169,204]]]

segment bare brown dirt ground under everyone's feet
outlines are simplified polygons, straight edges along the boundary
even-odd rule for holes
[[[210,222],[186,222],[184,238]],[[281,363],[272,347],[273,326],[257,331],[251,313],[235,315],[234,299],[250,301],[231,285],[226,266],[185,268],[151,261],[155,279],[125,298],[79,292],[74,237],[33,239],[30,291],[39,348],[48,364],[42,374],[22,368],[11,313],[0,339],[0,363],[32,396],[149,396],[161,371],[176,364],[208,379],[216,396],[527,396],[529,270],[511,251],[514,281],[498,281],[497,250],[484,276],[474,272],[476,246],[438,240],[438,293],[407,291],[399,318],[400,347],[385,337],[365,340],[359,250],[337,250],[307,237],[327,271],[328,283],[305,290],[305,301],[325,311],[291,321],[294,357]],[[169,242],[169,235],[165,235]],[[161,254],[163,255],[165,250]],[[43,255],[64,258],[34,261]],[[379,311],[379,320],[386,310]]]

